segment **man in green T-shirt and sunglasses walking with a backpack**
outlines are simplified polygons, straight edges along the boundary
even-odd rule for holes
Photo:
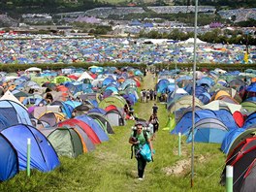
[[[147,143],[151,150],[151,156],[153,156],[153,145],[151,143],[149,133],[147,133],[143,129],[144,129],[143,123],[137,123],[136,129],[132,132],[132,134],[129,138],[129,143],[132,144],[132,146],[134,146],[134,152],[135,152],[135,156],[136,156],[136,159],[138,162],[139,180],[144,179],[144,168],[146,166],[146,160],[140,154],[141,147]]]

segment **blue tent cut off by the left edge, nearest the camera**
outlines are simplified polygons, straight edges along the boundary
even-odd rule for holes
[[[18,160],[15,147],[2,134],[0,134],[0,146],[0,181],[4,181],[16,176]]]

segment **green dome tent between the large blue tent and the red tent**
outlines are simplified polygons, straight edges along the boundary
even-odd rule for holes
[[[61,127],[54,129],[48,134],[48,141],[59,156],[75,158],[83,153],[80,135],[73,128]]]

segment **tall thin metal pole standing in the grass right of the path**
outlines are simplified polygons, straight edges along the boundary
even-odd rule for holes
[[[196,98],[196,66],[197,66],[197,16],[198,0],[195,0],[195,27],[194,27],[194,64],[193,64],[193,97],[192,97],[192,144],[191,144],[191,187],[194,185],[194,129],[195,129],[195,98]]]

